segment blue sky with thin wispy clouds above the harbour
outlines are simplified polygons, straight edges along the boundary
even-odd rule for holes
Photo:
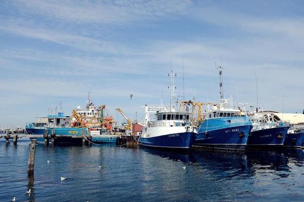
[[[267,110],[304,109],[302,0],[4,0],[0,4],[0,127],[60,109],[120,108],[176,96],[224,97]],[[119,124],[120,124],[119,123]]]

